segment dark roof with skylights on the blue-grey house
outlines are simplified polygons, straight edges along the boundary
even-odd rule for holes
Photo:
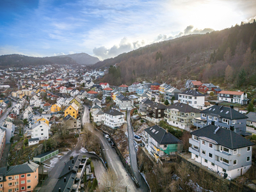
[[[248,118],[247,116],[239,113],[235,109],[224,107],[224,106],[212,106],[211,108],[204,109],[200,113],[205,113],[209,115],[218,115],[221,118],[227,118],[230,120]]]

